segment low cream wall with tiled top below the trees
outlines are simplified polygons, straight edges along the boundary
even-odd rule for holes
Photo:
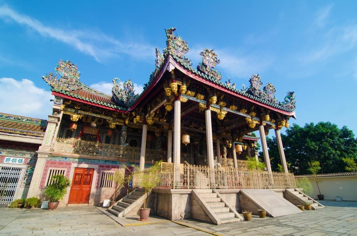
[[[313,197],[317,199],[318,188],[313,177],[307,177],[311,182],[313,188]],[[336,196],[340,196],[342,200],[357,201],[357,176],[330,176],[330,177],[316,177],[318,187],[321,194],[324,195],[325,200],[336,200]]]

